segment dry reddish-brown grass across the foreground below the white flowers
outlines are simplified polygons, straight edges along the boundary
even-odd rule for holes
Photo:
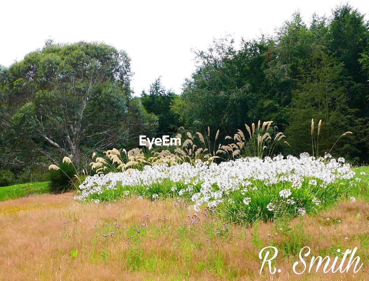
[[[292,272],[296,257],[280,252],[276,267],[282,273],[272,276],[266,271],[259,275],[258,258],[261,245],[282,243],[280,235],[273,234],[272,223],[260,223],[257,232],[237,225],[223,231],[220,220],[200,213],[200,221],[191,226],[187,215],[195,212],[174,207],[176,202],[170,200],[79,204],[72,197],[42,195],[0,202],[0,280],[366,280],[369,276],[369,204],[363,201],[341,202],[327,212],[304,217],[306,246],[315,255],[332,256],[337,245],[358,247],[364,263],[359,273],[297,276]],[[336,225],[334,219],[341,223]],[[134,228],[142,223],[148,226],[135,235]],[[291,227],[299,223],[294,220]],[[103,236],[111,231],[112,237]],[[215,235],[218,231],[221,235]],[[141,241],[137,246],[136,237]],[[72,250],[78,251],[76,257]],[[135,256],[137,260],[132,260]]]

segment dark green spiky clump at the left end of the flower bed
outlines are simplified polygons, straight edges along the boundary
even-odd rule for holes
[[[64,157],[58,166],[49,166],[50,183],[49,188],[52,193],[68,192],[76,188],[79,176],[73,163],[68,157]]]

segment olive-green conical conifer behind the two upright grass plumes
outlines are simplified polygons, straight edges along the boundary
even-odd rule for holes
[[[346,136],[349,141],[340,139],[334,146],[343,133],[354,131],[355,126],[354,111],[348,107],[346,89],[340,80],[343,63],[324,50],[314,51],[309,62],[305,69],[300,69],[297,89],[292,92],[289,125],[286,129],[288,142],[299,153],[313,153],[311,119],[315,120],[315,138],[318,121],[321,119],[323,123],[318,143],[314,142],[315,146],[318,145],[320,156],[331,152],[336,157],[343,156],[352,160],[359,152],[354,137]]]

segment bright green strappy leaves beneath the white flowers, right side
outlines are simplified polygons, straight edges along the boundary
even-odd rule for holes
[[[230,192],[228,194],[230,200],[219,206],[219,212],[224,215],[225,219],[238,223],[250,223],[258,219],[274,220],[276,215],[278,217],[288,215],[292,218],[299,215],[299,207],[303,207],[307,213],[311,213],[322,206],[334,204],[339,197],[347,196],[351,190],[348,181],[341,181],[328,185],[327,188],[321,188],[309,184],[309,180],[307,178],[299,189],[291,188],[283,183],[266,186],[261,181],[254,180],[251,190]],[[279,192],[284,189],[291,190],[292,195],[289,199],[295,201],[294,204],[288,204],[286,203],[287,199],[280,197]],[[245,204],[245,198],[251,198],[249,204]],[[314,198],[321,201],[321,204],[315,205],[312,201]],[[274,206],[273,212],[265,207],[269,203]]]

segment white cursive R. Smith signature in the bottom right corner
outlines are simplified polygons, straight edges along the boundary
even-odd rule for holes
[[[306,246],[300,250],[300,253],[299,253],[300,261],[296,261],[293,264],[292,270],[296,274],[302,274],[307,269],[308,269],[307,272],[309,273],[314,272],[314,271],[318,272],[320,268],[321,270],[323,270],[324,273],[328,273],[328,272],[332,272],[332,273],[346,272],[347,273],[349,272],[350,269],[352,269],[353,273],[357,273],[361,269],[363,264],[360,263],[360,257],[358,256],[355,257],[356,250],[358,250],[357,247],[355,247],[353,250],[347,249],[345,252],[343,252],[341,263],[339,263],[338,265],[337,264],[338,256],[335,256],[334,258],[331,258],[329,256],[326,256],[324,258],[321,256],[317,256],[317,257],[312,256],[309,261],[308,256],[310,255],[310,247]],[[265,256],[263,257],[264,251],[266,251],[266,253],[265,253]],[[271,252],[273,253],[273,255],[271,254]],[[340,253],[341,250],[338,249],[337,252]],[[263,260],[263,263],[260,268],[260,274],[262,273],[263,267],[265,266],[266,263],[268,263],[269,272],[271,274],[275,274],[276,271],[278,273],[281,272],[280,269],[277,269],[275,267],[273,267],[272,269],[272,260],[277,257],[277,254],[278,254],[278,250],[276,247],[273,247],[273,246],[268,246],[268,247],[264,247],[263,249],[261,249],[259,253],[259,259]],[[306,258],[306,260],[304,259],[304,257]],[[352,266],[354,267],[352,268]]]

